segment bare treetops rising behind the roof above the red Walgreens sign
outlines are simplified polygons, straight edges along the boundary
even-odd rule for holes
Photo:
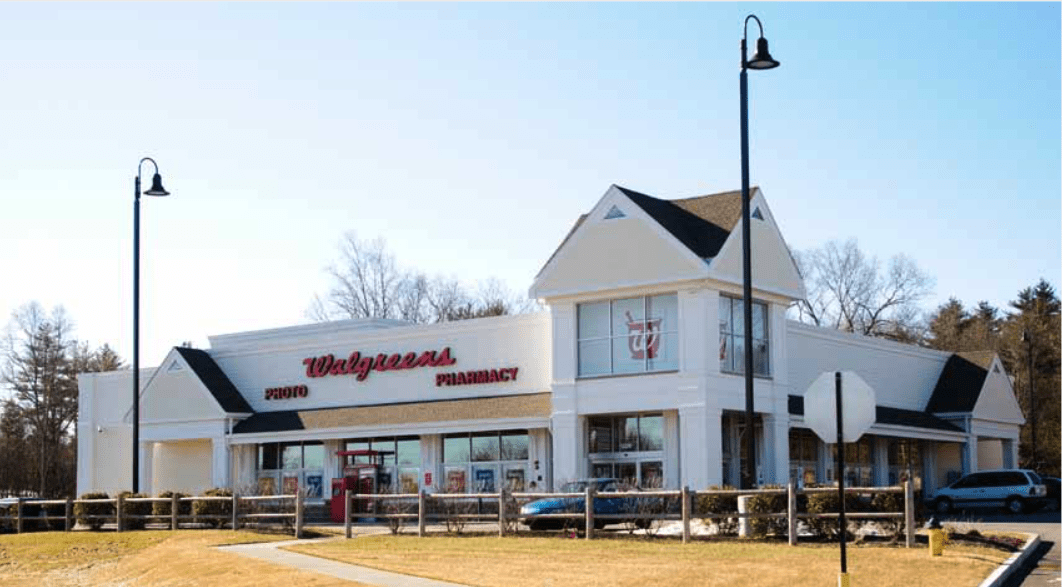
[[[318,322],[340,318],[398,318],[411,323],[450,322],[525,313],[534,309],[501,281],[479,283],[475,294],[455,278],[429,278],[398,265],[382,239],[361,241],[344,235],[340,260],[328,269],[332,287],[314,296],[307,315]]]

